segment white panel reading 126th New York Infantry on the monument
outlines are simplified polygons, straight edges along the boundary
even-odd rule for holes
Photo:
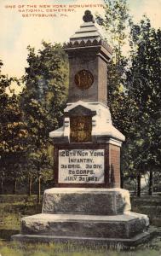
[[[59,183],[104,183],[104,149],[59,150]]]

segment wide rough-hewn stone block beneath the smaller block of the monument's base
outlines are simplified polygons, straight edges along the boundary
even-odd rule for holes
[[[147,218],[135,213],[118,216],[37,214],[22,218],[28,235],[131,238],[147,229]]]

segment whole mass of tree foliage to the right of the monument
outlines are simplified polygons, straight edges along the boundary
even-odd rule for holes
[[[152,28],[147,17],[135,24],[126,0],[105,3],[105,18],[98,15],[97,20],[113,48],[107,67],[107,102],[113,125],[126,137],[122,172],[141,177],[149,169],[160,168],[160,29]],[[123,50],[128,42],[129,56]]]

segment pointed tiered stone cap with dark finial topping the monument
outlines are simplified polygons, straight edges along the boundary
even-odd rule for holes
[[[112,48],[103,40],[101,33],[95,26],[95,19],[89,10],[85,11],[83,21],[83,25],[72,35],[70,42],[64,44],[64,48],[69,49],[101,45],[108,51],[108,55],[112,55]]]

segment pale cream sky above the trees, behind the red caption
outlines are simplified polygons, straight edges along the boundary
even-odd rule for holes
[[[3,61],[3,74],[20,78],[27,67],[27,45],[40,49],[42,40],[51,43],[68,41],[83,23],[84,10],[90,9],[93,14],[98,12],[103,15],[103,3],[103,0],[0,0],[0,60]],[[128,3],[130,14],[136,22],[146,14],[152,26],[161,27],[161,0],[128,0]],[[84,4],[92,4],[92,7],[83,8]],[[71,11],[59,13],[58,9]],[[53,16],[22,16],[38,14]]]

